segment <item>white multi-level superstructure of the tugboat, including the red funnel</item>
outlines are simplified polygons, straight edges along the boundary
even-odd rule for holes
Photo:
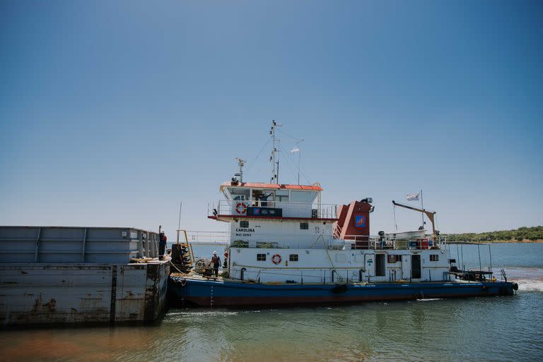
[[[369,230],[370,199],[339,207],[322,204],[318,184],[236,180],[223,183],[220,190],[224,198],[209,217],[230,224],[226,272],[231,279],[276,283],[449,279],[448,252],[437,236],[426,236],[424,230],[380,236],[358,232]],[[342,234],[342,229],[355,234]]]

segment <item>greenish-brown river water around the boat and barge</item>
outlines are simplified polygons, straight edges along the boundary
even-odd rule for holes
[[[219,251],[219,250],[217,250]],[[487,246],[451,246],[467,267]],[[156,325],[0,332],[0,361],[543,361],[543,244],[496,244],[515,296],[170,309]]]

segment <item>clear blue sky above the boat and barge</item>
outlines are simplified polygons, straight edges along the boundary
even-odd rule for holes
[[[222,229],[271,119],[373,234],[421,188],[443,232],[543,224],[542,4],[1,1],[0,224]]]

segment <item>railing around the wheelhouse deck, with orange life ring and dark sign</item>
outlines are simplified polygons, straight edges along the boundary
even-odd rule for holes
[[[262,208],[255,210],[255,208]],[[251,209],[251,210],[250,210]],[[280,214],[279,214],[279,211]],[[258,214],[256,214],[258,212]],[[276,216],[308,219],[337,219],[337,204],[294,203],[263,200],[219,200],[212,206],[209,215],[230,216]]]

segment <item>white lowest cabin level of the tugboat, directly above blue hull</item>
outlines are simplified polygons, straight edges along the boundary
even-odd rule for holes
[[[230,248],[229,272],[263,283],[437,282],[450,280],[448,258],[440,249]]]

